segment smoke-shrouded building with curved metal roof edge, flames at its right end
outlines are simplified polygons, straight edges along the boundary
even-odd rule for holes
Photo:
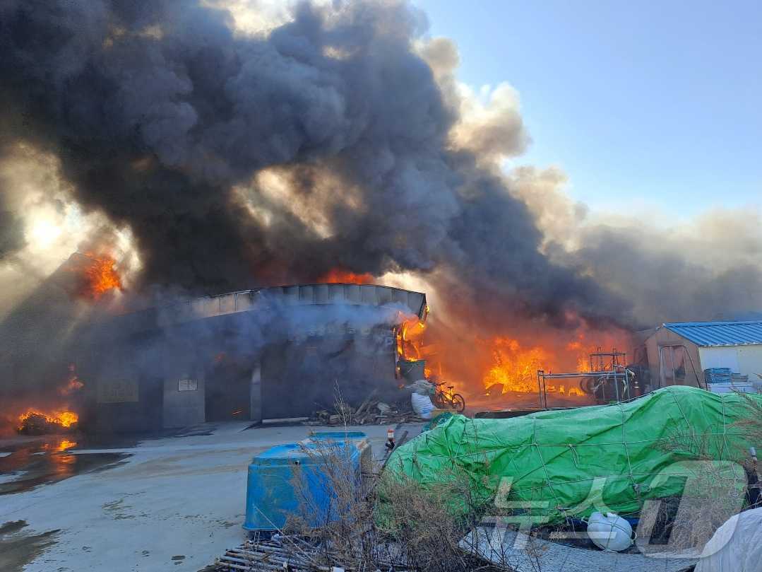
[[[94,329],[94,426],[149,431],[309,416],[371,391],[397,400],[396,330],[426,296],[374,284],[299,284],[203,297]]]

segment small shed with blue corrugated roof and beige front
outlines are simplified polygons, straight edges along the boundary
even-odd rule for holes
[[[706,388],[707,370],[727,372],[739,385],[762,386],[762,320],[668,322],[645,348],[655,387]]]

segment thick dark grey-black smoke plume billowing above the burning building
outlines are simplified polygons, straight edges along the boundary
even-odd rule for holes
[[[437,272],[487,317],[622,319],[615,295],[541,252],[533,214],[484,160],[528,143],[511,93],[466,117],[456,54],[421,54],[424,31],[405,2],[303,2],[255,36],[199,2],[11,0],[3,137],[54,153],[82,207],[132,230],[143,286]],[[285,200],[261,184],[279,171]],[[315,197],[324,232],[293,209]]]

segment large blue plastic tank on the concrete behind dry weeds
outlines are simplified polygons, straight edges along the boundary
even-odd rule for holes
[[[341,439],[344,439],[343,433]],[[335,451],[338,455],[346,455],[359,482],[363,451],[352,442],[318,439],[271,447],[257,455],[248,466],[244,529],[283,529],[289,515],[304,516],[312,526],[335,519],[331,486],[322,468],[328,460],[323,453],[325,442],[329,442],[331,453]],[[310,451],[312,454],[309,454]],[[294,487],[295,477],[302,480],[304,490],[308,492],[309,514],[303,514],[299,509],[302,495]]]

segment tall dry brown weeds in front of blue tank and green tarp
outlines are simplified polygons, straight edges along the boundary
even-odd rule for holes
[[[322,564],[353,570],[495,569],[458,545],[479,519],[479,500],[465,474],[453,471],[446,485],[434,489],[398,474],[358,474],[353,447],[305,446],[320,476],[307,464],[294,471],[300,514],[289,519],[286,532],[311,538]]]

